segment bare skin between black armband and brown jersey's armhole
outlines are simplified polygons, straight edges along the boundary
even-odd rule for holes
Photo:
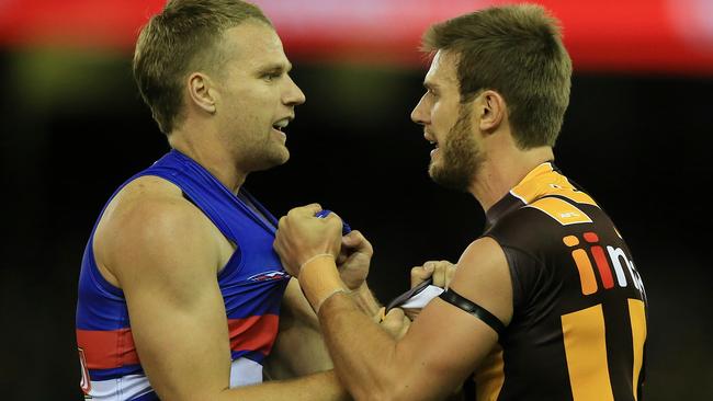
[[[493,238],[479,238],[466,248],[450,287],[506,324],[512,318],[510,268],[502,248]]]

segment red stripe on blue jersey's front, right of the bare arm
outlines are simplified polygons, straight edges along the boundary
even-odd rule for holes
[[[258,351],[268,355],[278,336],[280,317],[276,314],[228,319],[231,351]]]

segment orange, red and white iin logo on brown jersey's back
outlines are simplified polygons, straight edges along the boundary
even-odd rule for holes
[[[562,239],[565,245],[569,248],[578,247],[571,251],[571,257],[575,260],[575,264],[579,271],[581,294],[591,295],[597,293],[599,289],[595,268],[591,263],[592,259],[597,265],[597,271],[599,272],[599,277],[601,278],[601,284],[604,289],[614,287],[612,266],[614,274],[616,274],[616,284],[619,284],[620,287],[626,287],[629,282],[626,280],[626,274],[624,273],[625,266],[634,287],[636,287],[640,293],[644,293],[644,285],[642,284],[642,279],[636,272],[636,268],[634,268],[634,262],[626,257],[624,250],[607,245],[607,252],[604,252],[604,249],[601,245],[598,245],[599,236],[597,236],[596,232],[585,232],[582,237],[585,242],[591,244],[589,247],[589,252],[587,252],[584,247],[579,247],[579,238],[575,236],[567,236]],[[611,262],[611,265],[609,262]]]

